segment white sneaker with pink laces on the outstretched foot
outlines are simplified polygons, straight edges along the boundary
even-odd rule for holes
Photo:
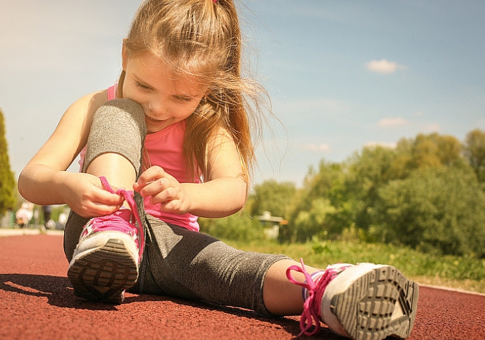
[[[306,283],[293,280],[291,270],[304,273]],[[306,273],[303,261],[302,268],[292,266],[287,271],[290,281],[302,285],[307,292],[301,334],[316,334],[321,319],[334,333],[355,340],[410,336],[419,286],[392,265],[331,265],[315,274],[311,278]],[[311,331],[313,322],[316,325]]]

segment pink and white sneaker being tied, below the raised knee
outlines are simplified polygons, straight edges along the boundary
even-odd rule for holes
[[[108,191],[114,192],[104,177],[101,180]],[[127,199],[132,210],[121,208],[113,214],[90,219],[82,229],[68,268],[75,295],[113,304],[122,303],[124,291],[137,282],[144,248],[133,192],[116,193]]]

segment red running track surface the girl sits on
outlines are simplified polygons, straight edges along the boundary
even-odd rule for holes
[[[299,317],[267,318],[127,294],[119,306],[73,295],[61,236],[0,237],[0,339],[294,339]],[[304,338],[302,338],[304,339]],[[343,339],[329,329],[307,339]],[[421,287],[409,339],[485,339],[485,297]]]

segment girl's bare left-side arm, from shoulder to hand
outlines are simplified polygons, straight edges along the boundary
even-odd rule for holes
[[[103,214],[119,196],[102,190],[92,175],[65,171],[85,146],[92,116],[107,101],[106,91],[89,94],[65,111],[58,126],[18,177],[18,191],[30,202],[68,204],[81,216]]]

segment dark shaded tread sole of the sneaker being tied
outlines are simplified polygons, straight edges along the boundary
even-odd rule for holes
[[[118,305],[124,290],[137,282],[138,265],[122,240],[110,238],[104,246],[71,261],[68,278],[76,296]]]

